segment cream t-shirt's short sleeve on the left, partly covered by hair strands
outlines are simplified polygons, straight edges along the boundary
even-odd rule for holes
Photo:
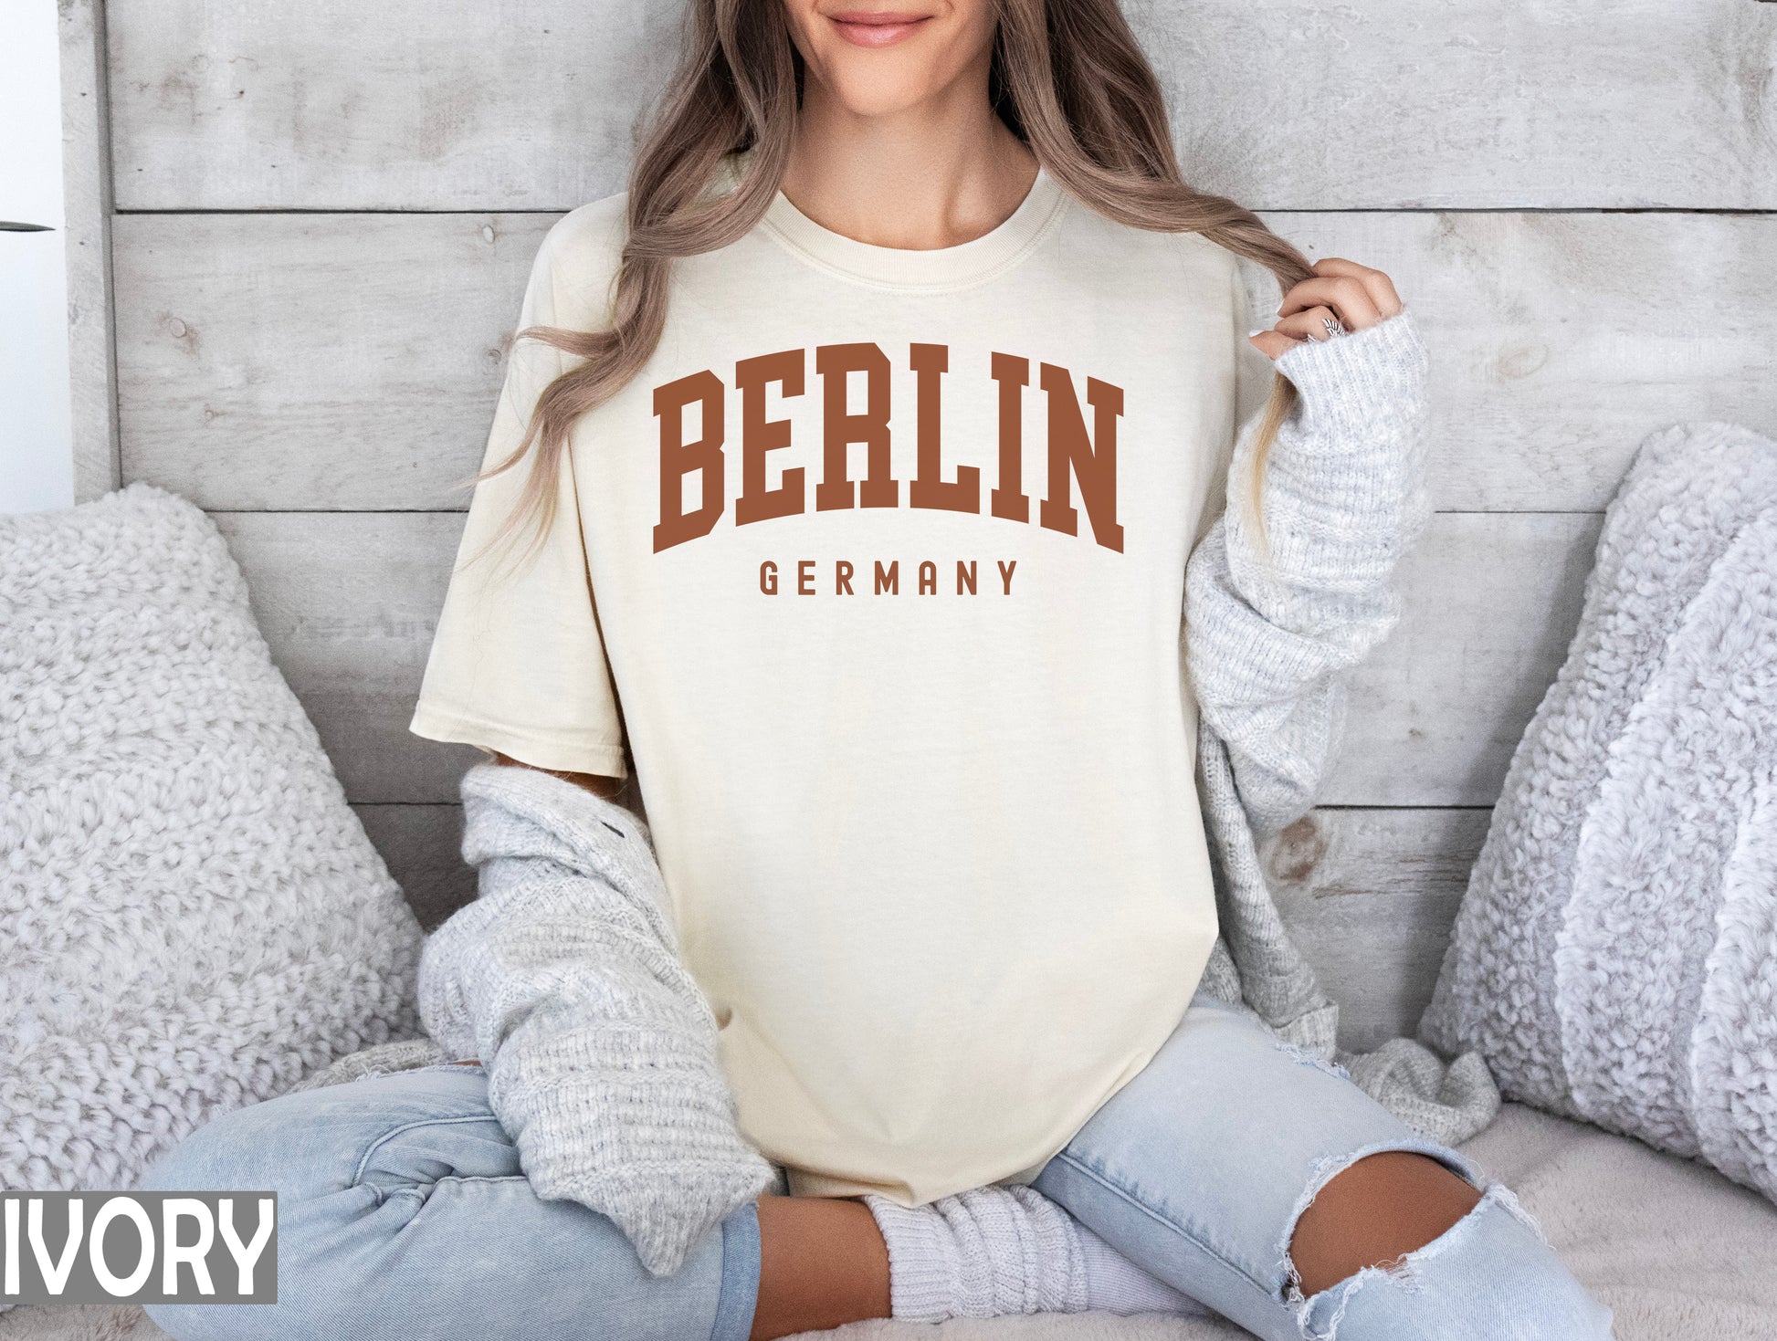
[[[519,329],[554,325],[556,233],[531,268]],[[517,341],[482,469],[519,446],[537,396],[565,368],[538,341]],[[528,529],[476,558],[512,513],[537,446],[508,471],[476,483],[444,607],[409,730],[430,741],[498,750],[524,764],[622,778],[622,718],[594,606],[572,453],[563,451],[547,538],[524,558]]]

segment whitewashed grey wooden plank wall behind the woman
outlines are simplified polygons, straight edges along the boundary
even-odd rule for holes
[[[1777,432],[1777,5],[1141,0],[1192,179],[1390,270],[1434,362],[1439,515],[1272,845],[1347,1043],[1411,1028],[1512,746],[1647,432]],[[405,732],[531,252],[622,188],[677,11],[110,0],[124,480],[208,508],[418,904],[464,897]]]

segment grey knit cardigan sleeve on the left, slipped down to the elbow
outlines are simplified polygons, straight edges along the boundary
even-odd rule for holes
[[[546,1201],[613,1220],[654,1272],[775,1178],[741,1135],[641,821],[538,769],[462,780],[480,897],[426,941],[419,1018],[478,1057]]]

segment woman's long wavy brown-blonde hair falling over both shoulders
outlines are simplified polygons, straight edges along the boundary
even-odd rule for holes
[[[1223,195],[1192,190],[1178,171],[1166,99],[1118,0],[995,0],[999,30],[988,92],[1006,126],[1073,199],[1120,224],[1201,233],[1271,270],[1283,290],[1311,275],[1295,247]],[[579,362],[537,400],[506,460],[462,481],[515,467],[535,446],[519,501],[474,558],[554,524],[556,481],[574,423],[615,396],[649,361],[666,325],[668,270],[745,236],[777,195],[796,133],[801,55],[782,0],[691,0],[679,67],[654,108],[629,174],[627,240],[608,330],[530,327],[517,339],[553,345]],[[739,185],[709,197],[725,155],[753,149]],[[1265,460],[1295,389],[1272,373],[1260,419],[1247,508],[1258,506]]]

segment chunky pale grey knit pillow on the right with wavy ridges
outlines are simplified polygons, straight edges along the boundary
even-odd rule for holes
[[[1642,444],[1420,1037],[1777,1201],[1777,442]]]

